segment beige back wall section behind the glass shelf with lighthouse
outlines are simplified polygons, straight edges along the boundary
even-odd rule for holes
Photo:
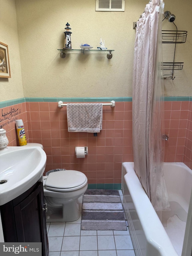
[[[132,96],[133,21],[145,3],[126,0],[125,12],[95,12],[95,0],[16,0],[25,97]],[[67,22],[74,49],[97,49],[102,37],[113,58],[73,52],[61,59]]]

